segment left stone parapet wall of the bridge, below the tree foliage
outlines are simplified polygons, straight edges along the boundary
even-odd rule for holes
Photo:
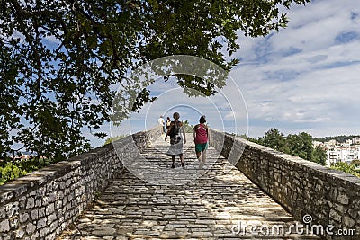
[[[156,127],[0,186],[0,239],[54,239],[96,194],[161,134]]]

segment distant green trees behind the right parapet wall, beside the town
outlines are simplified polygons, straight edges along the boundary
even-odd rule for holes
[[[289,134],[285,137],[278,129],[270,129],[264,137],[247,139],[285,154],[299,156],[321,165],[326,164],[327,153],[324,147],[314,147],[312,145],[314,138],[306,132]]]

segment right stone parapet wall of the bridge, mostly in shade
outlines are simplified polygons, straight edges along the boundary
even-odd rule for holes
[[[298,220],[311,215],[313,225],[324,230],[334,226],[333,233],[356,229],[356,236],[325,234],[327,239],[360,239],[359,178],[217,130],[210,130],[210,140],[211,146]],[[230,159],[236,153],[236,161]]]

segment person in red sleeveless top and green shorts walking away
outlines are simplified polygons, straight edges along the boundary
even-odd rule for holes
[[[200,124],[193,127],[193,141],[195,142],[196,157],[204,164],[206,159],[206,149],[208,148],[209,131],[208,126],[204,124],[206,122],[205,116],[202,115],[199,121]],[[200,160],[200,156],[202,156],[202,160]]]

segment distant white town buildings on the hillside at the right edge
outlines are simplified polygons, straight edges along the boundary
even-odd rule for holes
[[[360,137],[346,139],[338,142],[336,139],[329,141],[313,141],[314,147],[324,147],[327,152],[327,166],[335,165],[339,162],[354,164],[360,161]]]

